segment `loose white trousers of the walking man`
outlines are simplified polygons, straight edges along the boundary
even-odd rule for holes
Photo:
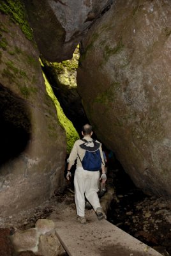
[[[101,207],[98,198],[98,181],[100,172],[90,172],[78,167],[75,170],[74,187],[75,187],[75,204],[78,216],[85,215],[85,196],[93,206],[94,211]]]

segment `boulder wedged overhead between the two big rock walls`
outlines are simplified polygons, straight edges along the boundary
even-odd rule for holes
[[[25,0],[40,52],[48,61],[72,58],[85,31],[113,0]],[[43,24],[43,26],[42,26]]]

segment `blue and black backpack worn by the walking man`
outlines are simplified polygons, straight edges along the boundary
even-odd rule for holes
[[[82,139],[84,143],[80,145],[80,148],[85,149],[85,155],[81,161],[80,156],[78,155],[82,167],[87,171],[98,171],[101,169],[102,159],[100,156],[100,143],[95,140],[87,141]],[[94,147],[89,147],[89,143],[94,143]]]

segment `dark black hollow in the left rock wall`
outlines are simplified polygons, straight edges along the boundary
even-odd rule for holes
[[[31,122],[24,100],[0,83],[0,167],[20,155],[31,136]]]

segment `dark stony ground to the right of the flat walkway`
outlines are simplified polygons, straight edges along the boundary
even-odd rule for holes
[[[112,175],[115,198],[108,221],[162,255],[171,256],[171,201],[144,195],[121,168],[113,170]]]

